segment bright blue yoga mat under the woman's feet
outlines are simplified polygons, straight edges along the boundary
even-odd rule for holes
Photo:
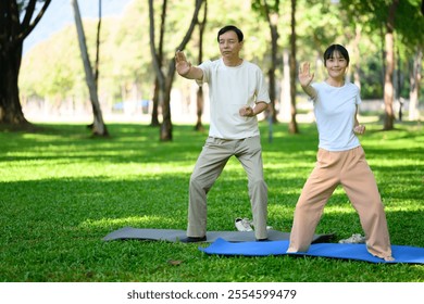
[[[208,248],[199,248],[207,254],[217,255],[244,255],[244,256],[267,256],[267,255],[301,255],[322,256],[342,259],[357,259],[370,263],[409,263],[424,264],[424,248],[391,245],[391,253],[395,261],[386,262],[370,254],[365,244],[340,244],[340,243],[315,243],[311,244],[308,252],[286,253],[288,240],[270,242],[240,242],[232,243],[217,239]]]

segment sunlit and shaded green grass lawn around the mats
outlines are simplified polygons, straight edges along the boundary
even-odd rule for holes
[[[423,265],[376,265],[316,257],[209,256],[198,244],[101,239],[124,226],[185,229],[188,180],[207,134],[174,126],[160,142],[145,125],[110,124],[110,139],[82,125],[40,125],[38,132],[0,132],[0,281],[3,282],[423,282]],[[424,132],[398,124],[367,125],[361,142],[386,205],[394,244],[424,246]],[[297,198],[315,161],[316,130],[261,124],[269,225],[289,231]],[[247,180],[237,160],[209,194],[209,230],[234,230],[250,217]],[[363,233],[337,189],[316,233]],[[202,244],[207,245],[207,244]],[[170,261],[178,261],[173,265]]]

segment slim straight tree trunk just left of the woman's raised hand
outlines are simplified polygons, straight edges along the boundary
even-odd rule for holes
[[[290,134],[298,134],[299,128],[296,122],[296,0],[291,0],[291,36],[290,36],[290,100],[291,121],[288,126]]]

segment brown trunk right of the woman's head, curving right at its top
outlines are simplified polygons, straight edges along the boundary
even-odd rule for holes
[[[392,130],[395,114],[394,114],[394,84],[392,75],[395,69],[395,14],[399,4],[399,0],[394,0],[389,7],[389,13],[386,24],[385,46],[386,46],[386,73],[384,77],[384,105],[385,105],[385,119],[384,130]]]

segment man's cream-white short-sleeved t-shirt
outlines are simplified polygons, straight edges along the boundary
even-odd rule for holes
[[[244,105],[270,103],[262,71],[253,63],[242,61],[238,66],[226,66],[222,59],[205,61],[202,83],[209,86],[211,118],[209,136],[223,139],[242,139],[259,136],[258,118],[242,117]]]

